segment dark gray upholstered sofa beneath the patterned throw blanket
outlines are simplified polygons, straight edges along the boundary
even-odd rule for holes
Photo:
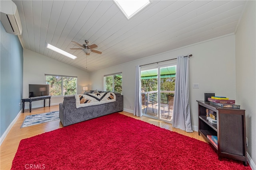
[[[110,113],[123,111],[124,97],[120,93],[116,94],[116,102],[76,108],[76,99],[74,95],[64,96],[60,107],[60,121],[63,126],[72,125],[81,121],[93,119]]]

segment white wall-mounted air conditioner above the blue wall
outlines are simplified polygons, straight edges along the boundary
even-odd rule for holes
[[[0,20],[6,32],[21,35],[22,25],[17,6],[11,0],[0,0]]]

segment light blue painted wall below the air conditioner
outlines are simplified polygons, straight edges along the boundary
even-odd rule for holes
[[[0,136],[21,110],[23,48],[17,35],[6,33],[0,23]]]

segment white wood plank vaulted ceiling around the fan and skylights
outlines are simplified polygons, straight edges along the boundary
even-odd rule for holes
[[[112,0],[13,0],[17,5],[25,49],[92,72],[234,34],[246,1],[151,0],[127,20]],[[87,56],[71,41],[96,44]],[[54,45],[78,58],[72,60],[46,48]],[[181,54],[182,55],[182,54]],[[86,64],[87,63],[87,64]],[[87,65],[87,68],[86,68]]]

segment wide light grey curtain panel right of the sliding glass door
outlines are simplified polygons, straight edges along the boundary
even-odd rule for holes
[[[172,127],[193,132],[189,106],[189,57],[177,58]]]

